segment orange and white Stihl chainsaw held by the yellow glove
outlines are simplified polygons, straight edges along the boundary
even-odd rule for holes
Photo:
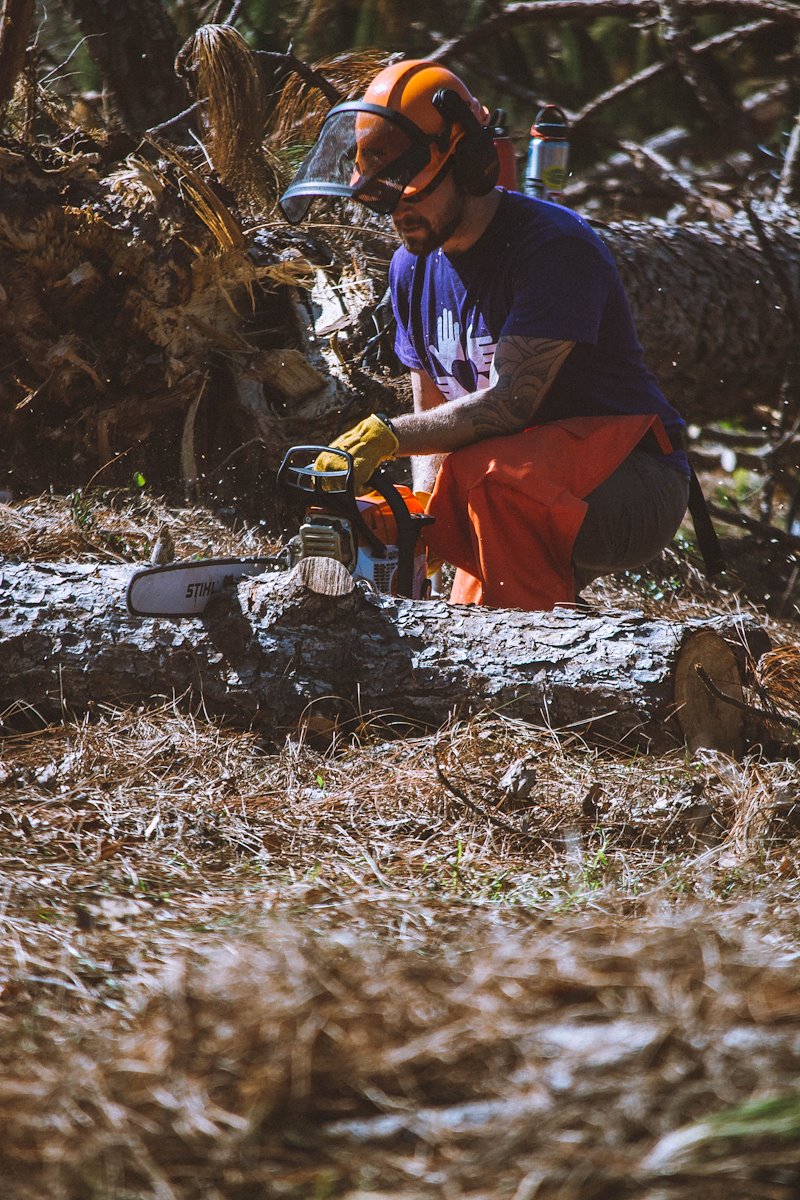
[[[326,451],[341,468],[317,470]],[[306,503],[300,529],[277,554],[252,558],[199,558],[148,566],[131,576],[126,592],[133,617],[197,617],[223,588],[264,571],[288,571],[303,558],[335,558],[354,578],[381,595],[422,600],[429,595],[422,539],[433,517],[410,488],[383,470],[369,491],[355,494],[353,456],[330,446],[293,446],[277,474],[278,490]]]

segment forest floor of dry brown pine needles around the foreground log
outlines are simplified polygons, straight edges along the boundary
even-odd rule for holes
[[[142,560],[166,520],[179,556],[264,548],[73,497],[0,506],[0,553]],[[796,757],[499,712],[266,742],[180,697],[10,734],[4,1200],[796,1198]]]

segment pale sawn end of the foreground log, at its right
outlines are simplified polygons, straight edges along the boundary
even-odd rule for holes
[[[742,702],[741,672],[736,656],[724,638],[711,630],[688,637],[675,665],[674,700],[686,745],[741,754],[745,714],[735,703],[715,696],[697,671],[702,667],[712,684],[733,701]]]

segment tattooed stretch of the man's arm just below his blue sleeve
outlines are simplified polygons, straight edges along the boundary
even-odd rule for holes
[[[573,346],[541,337],[501,337],[491,386],[480,394],[471,413],[476,439],[524,430]]]

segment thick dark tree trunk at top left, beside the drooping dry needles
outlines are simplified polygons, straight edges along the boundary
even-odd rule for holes
[[[136,136],[188,102],[175,77],[180,38],[161,0],[64,0],[113,100],[122,128]]]

